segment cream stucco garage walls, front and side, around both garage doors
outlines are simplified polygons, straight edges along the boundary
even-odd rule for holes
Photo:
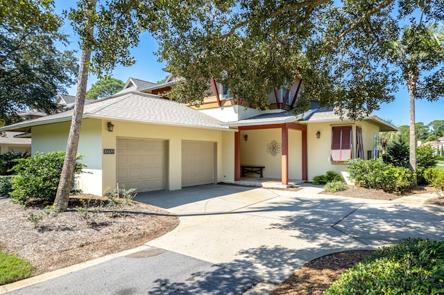
[[[182,188],[182,140],[216,143],[216,178],[234,181],[234,132],[190,127],[148,125],[112,121],[114,131],[108,132],[108,120],[85,119],[80,132],[78,154],[85,154],[85,174],[76,181],[85,193],[104,195],[116,188],[116,154],[103,154],[103,149],[117,147],[117,138],[164,139],[168,145],[167,189]],[[32,129],[33,151],[66,150],[69,122],[35,126]]]

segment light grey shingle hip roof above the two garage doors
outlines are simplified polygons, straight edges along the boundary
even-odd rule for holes
[[[0,128],[1,130],[27,131],[29,127],[71,120],[72,110],[53,114],[35,120],[24,121]],[[181,125],[188,127],[203,127],[228,129],[221,121],[171,100],[147,93],[126,93],[114,98],[96,100],[85,106],[83,118],[106,118],[114,120],[129,120],[139,123],[154,123],[164,125]]]

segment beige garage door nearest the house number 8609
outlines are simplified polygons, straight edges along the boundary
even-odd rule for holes
[[[119,188],[137,188],[138,193],[165,189],[166,141],[117,139]]]

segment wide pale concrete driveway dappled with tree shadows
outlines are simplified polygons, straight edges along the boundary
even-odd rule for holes
[[[241,294],[251,287],[250,294],[266,294],[329,253],[444,236],[441,207],[320,191],[211,185],[139,195],[179,215],[180,225],[132,253],[11,294]]]

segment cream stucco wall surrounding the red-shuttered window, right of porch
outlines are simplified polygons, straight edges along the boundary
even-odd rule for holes
[[[364,157],[367,159],[367,151],[373,150],[373,136],[379,133],[379,127],[366,121],[352,122],[343,121],[328,123],[309,123],[307,125],[307,158],[308,158],[308,180],[311,181],[316,175],[324,175],[327,170],[343,172],[347,166],[344,163],[330,161],[330,147],[332,141],[333,126],[352,126],[352,157],[356,157],[356,127],[362,128],[362,141],[364,143]],[[321,132],[321,137],[316,138],[316,132]]]

